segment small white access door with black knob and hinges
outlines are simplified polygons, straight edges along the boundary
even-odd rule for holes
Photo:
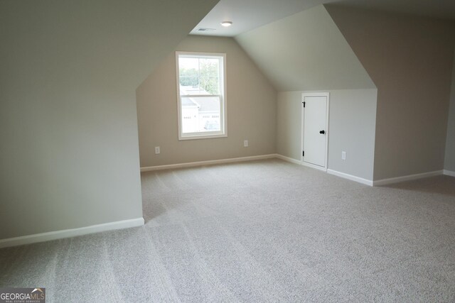
[[[304,165],[327,168],[328,93],[302,94]]]

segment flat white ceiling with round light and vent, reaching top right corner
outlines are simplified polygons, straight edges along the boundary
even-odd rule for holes
[[[455,19],[455,0],[220,0],[191,31],[193,35],[233,37],[311,7],[337,2],[349,6]],[[232,21],[224,28],[221,21]],[[213,31],[198,31],[212,28]]]

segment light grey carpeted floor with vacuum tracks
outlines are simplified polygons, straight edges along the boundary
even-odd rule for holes
[[[368,187],[281,160],[142,175],[141,228],[0,250],[48,302],[455,302],[455,178]]]

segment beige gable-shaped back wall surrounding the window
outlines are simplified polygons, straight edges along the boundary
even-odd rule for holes
[[[188,36],[176,50],[227,54],[228,137],[178,141],[176,59],[168,53],[137,89],[141,167],[276,153],[277,92],[235,40]]]

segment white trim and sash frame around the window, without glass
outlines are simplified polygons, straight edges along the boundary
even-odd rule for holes
[[[182,115],[181,115],[181,95],[180,95],[180,82],[178,69],[178,56],[179,55],[193,55],[198,57],[223,57],[223,92],[217,95],[203,95],[202,97],[219,96],[220,97],[220,128],[221,131],[206,131],[204,133],[182,133]],[[223,138],[228,136],[228,119],[227,119],[227,98],[226,98],[226,54],[225,53],[197,53],[197,52],[176,52],[176,84],[177,84],[177,114],[178,114],[178,140],[194,140],[194,139],[210,139],[210,138]],[[191,95],[191,97],[198,97],[198,95]]]

